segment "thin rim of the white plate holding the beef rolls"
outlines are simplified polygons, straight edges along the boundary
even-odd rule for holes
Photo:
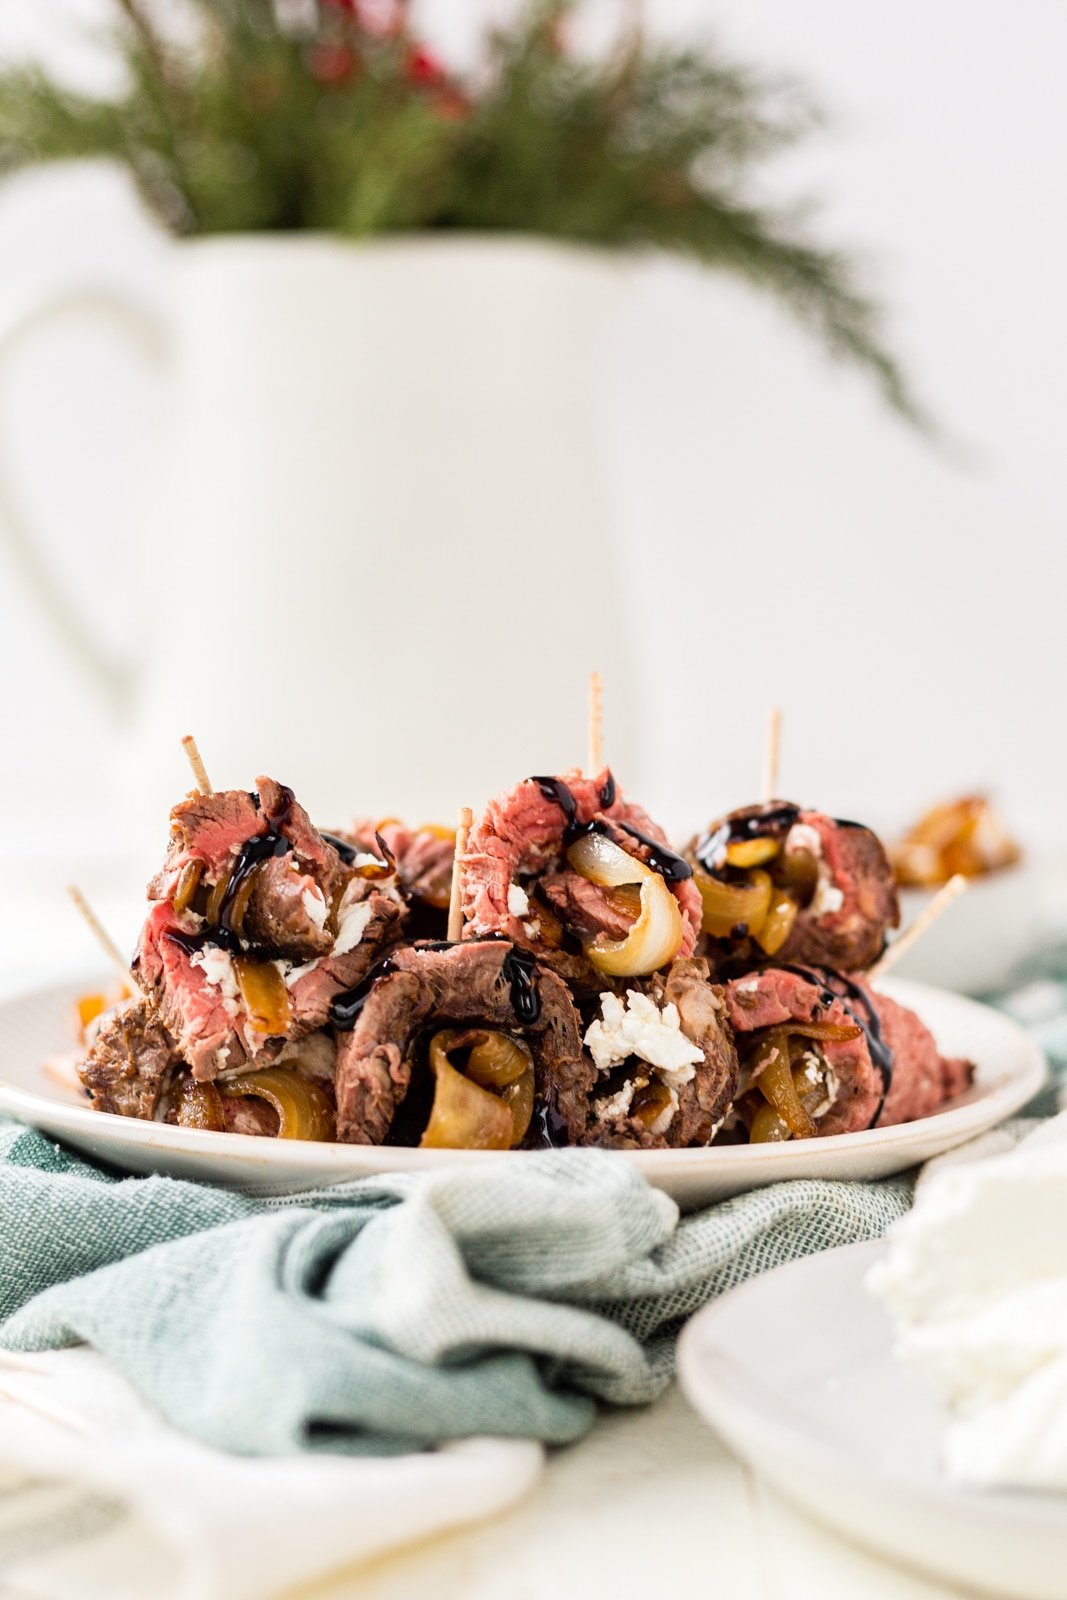
[[[93,984],[99,986],[99,973],[94,973],[86,979],[78,979],[75,974],[53,984],[8,994],[3,1000],[0,1000],[0,1018],[3,1018],[3,1014],[13,1006],[29,1006],[34,1002],[54,1005],[62,998],[72,998],[80,989]],[[1019,1050],[1017,1070],[1011,1072],[1006,1078],[1001,1077],[993,1082],[985,1091],[974,1098],[960,1098],[960,1102],[950,1102],[947,1107],[931,1112],[928,1117],[920,1117],[915,1122],[896,1123],[891,1128],[862,1128],[856,1133],[833,1134],[825,1141],[803,1139],[774,1146],[699,1146],[683,1150],[621,1150],[617,1154],[625,1155],[638,1171],[646,1174],[672,1171],[681,1176],[685,1171],[704,1166],[704,1163],[713,1160],[723,1170],[729,1165],[731,1170],[741,1178],[752,1176],[757,1179],[757,1174],[761,1174],[768,1181],[789,1181],[790,1170],[793,1166],[806,1165],[811,1158],[813,1144],[817,1144],[821,1149],[825,1147],[827,1155],[830,1154],[830,1149],[840,1150],[843,1155],[873,1150],[891,1152],[896,1146],[907,1146],[913,1142],[917,1139],[917,1130],[931,1128],[933,1125],[941,1126],[944,1131],[952,1131],[952,1142],[960,1144],[971,1134],[1003,1122],[1014,1110],[1032,1099],[1046,1082],[1048,1061],[1045,1051],[1040,1048],[1037,1040],[1006,1013],[997,1011],[993,1006],[989,1006],[981,1000],[973,1000],[969,995],[961,995],[950,989],[941,989],[934,984],[918,982],[910,978],[889,978],[885,986],[880,987],[885,989],[885,994],[889,998],[901,998],[902,1003],[912,1005],[920,1016],[923,1014],[923,998],[931,997],[934,1003],[950,1000],[955,1008],[979,1013],[985,1019],[993,1018],[997,1026],[1014,1035],[1014,1042]],[[995,1112],[992,1122],[990,1110]],[[56,1099],[43,1093],[38,1094],[32,1090],[19,1088],[5,1078],[2,1061],[0,1112],[6,1112],[16,1120],[29,1125],[37,1125],[42,1115],[45,1115],[51,1122],[62,1122],[67,1128],[72,1128],[83,1136],[102,1136],[126,1147],[157,1147],[174,1154],[184,1152],[190,1157],[197,1154],[211,1155],[214,1152],[218,1157],[227,1155],[235,1158],[237,1165],[245,1168],[258,1166],[269,1171],[282,1157],[278,1142],[274,1139],[262,1141],[250,1139],[237,1133],[174,1128],[166,1123],[98,1112],[88,1104],[80,1106],[75,1101]],[[104,1126],[101,1126],[101,1117],[106,1118]],[[456,1165],[458,1160],[509,1162],[522,1158],[528,1154],[526,1150],[418,1150],[395,1146],[349,1146],[336,1144],[333,1141],[293,1139],[285,1141],[283,1158],[288,1166],[296,1166],[306,1170],[307,1173],[330,1173],[334,1165],[342,1165],[346,1155],[350,1162],[354,1152],[360,1150],[374,1150],[374,1162],[378,1163],[378,1170],[382,1173],[402,1171],[411,1168],[413,1165],[421,1170],[432,1171],[440,1166]],[[331,1160],[330,1152],[344,1154],[338,1155],[336,1160]],[[721,1176],[726,1176],[725,1171]]]

